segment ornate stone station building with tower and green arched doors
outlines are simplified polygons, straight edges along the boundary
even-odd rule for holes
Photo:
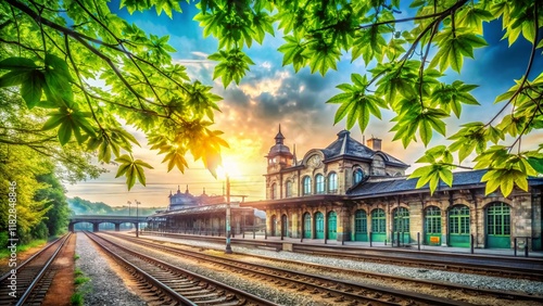
[[[542,250],[543,178],[505,197],[484,194],[484,170],[462,171],[430,194],[380,139],[337,136],[299,161],[279,128],[266,155],[266,200],[241,203],[265,211],[268,235],[479,248],[510,248],[517,239],[519,247]]]

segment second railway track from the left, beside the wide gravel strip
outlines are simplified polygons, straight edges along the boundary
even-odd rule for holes
[[[157,305],[276,305],[248,292],[214,281],[163,260],[85,232],[103,251],[124,266],[152,295]]]

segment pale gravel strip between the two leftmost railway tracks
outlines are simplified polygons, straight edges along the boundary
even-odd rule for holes
[[[124,285],[123,280],[110,268],[109,262],[84,233],[77,233],[76,243],[75,254],[79,258],[75,265],[84,272],[84,277],[90,278],[77,290],[84,293],[84,305],[147,305]]]

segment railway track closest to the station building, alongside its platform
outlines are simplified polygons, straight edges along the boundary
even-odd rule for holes
[[[224,238],[164,233],[161,235],[223,243]],[[282,250],[282,242],[231,239],[232,245]],[[540,280],[543,259],[494,255],[453,254],[444,252],[411,251],[403,248],[352,247],[294,243],[292,252],[334,258],[393,264],[399,266],[439,269],[444,271],[484,275],[491,277]]]

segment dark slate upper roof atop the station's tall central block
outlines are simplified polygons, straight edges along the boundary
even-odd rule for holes
[[[338,132],[338,139],[330,143],[326,149],[320,150],[325,154],[326,160],[333,160],[337,157],[358,157],[372,160],[376,154],[384,157],[386,163],[393,163],[399,166],[408,167],[404,162],[387,154],[382,151],[374,151],[368,146],[359,143],[351,137],[351,132],[342,130]]]

